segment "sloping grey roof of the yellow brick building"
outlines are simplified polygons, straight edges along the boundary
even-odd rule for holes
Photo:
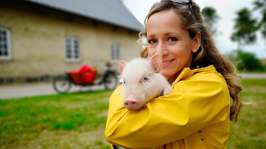
[[[74,15],[141,31],[144,26],[118,0],[25,0]]]

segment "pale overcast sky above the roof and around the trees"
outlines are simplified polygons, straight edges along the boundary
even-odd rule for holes
[[[144,19],[149,12],[151,6],[159,0],[123,0],[124,5],[132,12],[132,14],[144,24]],[[219,16],[217,27],[217,35],[213,36],[217,49],[222,54],[229,54],[237,48],[237,43],[230,40],[233,26],[235,24],[236,12],[244,7],[250,10],[254,7],[254,0],[194,0],[201,8],[211,6],[217,11]],[[257,12],[259,13],[259,12]],[[259,16],[259,15],[258,15]],[[257,42],[252,45],[242,46],[242,49],[247,52],[252,52],[259,59],[266,59],[266,39],[262,38],[261,34],[257,36]]]

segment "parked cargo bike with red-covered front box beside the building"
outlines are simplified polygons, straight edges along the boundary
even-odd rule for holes
[[[95,80],[97,69],[90,65],[82,65],[76,71],[65,72],[64,75],[59,75],[53,80],[53,89],[60,94],[68,93],[72,85],[79,86],[95,86],[104,85],[105,89],[111,90],[118,86],[117,72],[111,70],[111,64],[106,64],[107,69],[102,77]]]

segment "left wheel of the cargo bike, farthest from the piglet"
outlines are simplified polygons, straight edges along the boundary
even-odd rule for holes
[[[57,76],[53,80],[53,89],[60,94],[67,93],[71,88],[72,82],[68,76]]]

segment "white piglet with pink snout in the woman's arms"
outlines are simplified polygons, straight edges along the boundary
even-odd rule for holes
[[[123,102],[127,109],[140,110],[146,103],[162,95],[172,93],[171,85],[159,72],[162,68],[162,54],[150,59],[135,58],[130,62],[119,62],[123,79]]]

